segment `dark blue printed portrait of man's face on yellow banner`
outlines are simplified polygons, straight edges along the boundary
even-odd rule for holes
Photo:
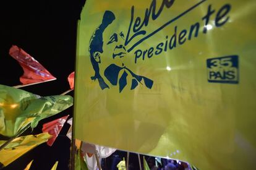
[[[134,90],[139,84],[151,89],[153,80],[137,75],[129,69],[128,65],[132,60],[128,58],[126,46],[124,46],[126,37],[122,30],[114,31],[117,30],[114,28],[118,27],[115,25],[115,20],[116,16],[113,12],[105,11],[101,23],[90,39],[90,61],[95,71],[91,79],[98,80],[102,90],[109,88],[109,85],[119,85],[119,93],[127,86],[130,90]],[[105,68],[101,67],[105,65],[103,62],[108,62]]]

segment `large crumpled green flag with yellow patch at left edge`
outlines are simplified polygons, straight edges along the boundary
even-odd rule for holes
[[[41,97],[0,85],[0,134],[14,136],[30,123],[34,128],[41,119],[60,113],[72,104],[72,96]]]

